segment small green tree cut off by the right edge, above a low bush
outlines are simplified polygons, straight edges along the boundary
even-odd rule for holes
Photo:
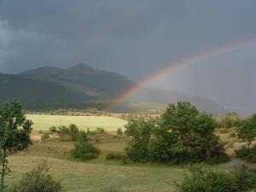
[[[241,125],[238,137],[242,141],[247,142],[247,148],[250,148],[254,137],[256,137],[256,114],[253,114],[250,119],[245,120],[243,125]]]

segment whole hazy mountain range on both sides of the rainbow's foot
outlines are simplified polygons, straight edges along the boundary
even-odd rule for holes
[[[39,67],[16,75],[0,73],[0,101],[17,99],[28,109],[103,108],[134,85],[125,76],[84,63],[67,69]],[[113,111],[159,111],[167,103],[177,101],[189,101],[208,113],[224,113],[223,108],[207,98],[156,88],[141,90]]]

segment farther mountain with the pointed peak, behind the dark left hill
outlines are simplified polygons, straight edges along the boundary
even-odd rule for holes
[[[92,90],[100,91],[108,96],[118,96],[134,84],[130,79],[118,73],[95,69],[84,63],[79,63],[68,69],[40,67],[20,74],[78,84],[90,87]]]

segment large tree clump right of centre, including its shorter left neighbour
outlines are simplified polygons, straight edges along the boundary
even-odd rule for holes
[[[134,161],[227,161],[224,144],[214,135],[215,127],[212,116],[200,113],[189,102],[177,102],[169,105],[160,119],[131,119],[125,125],[131,137],[126,152]]]

